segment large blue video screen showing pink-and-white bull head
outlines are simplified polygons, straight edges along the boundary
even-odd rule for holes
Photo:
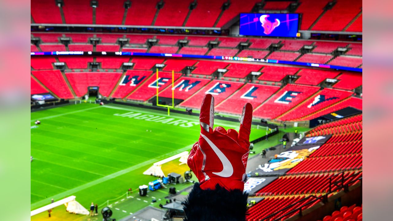
[[[298,24],[298,14],[240,14],[241,35],[296,37]]]

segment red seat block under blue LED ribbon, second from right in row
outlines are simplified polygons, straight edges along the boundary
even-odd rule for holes
[[[327,78],[336,77],[339,73],[340,72],[330,70],[303,69],[298,73],[298,76],[301,77],[299,77],[295,83],[301,85],[318,85]]]

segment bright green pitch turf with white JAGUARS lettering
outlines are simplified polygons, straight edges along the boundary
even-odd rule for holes
[[[154,162],[189,151],[200,130],[197,116],[178,113],[167,116],[160,110],[114,104],[81,103],[41,110],[31,113],[31,126],[35,120],[41,124],[31,128],[31,210],[50,203],[52,198],[58,201],[70,195],[75,195],[87,209],[91,202],[105,204],[129,188],[136,197],[138,186],[156,179],[143,175],[143,171]],[[238,130],[239,122],[215,120],[215,126]],[[253,128],[250,140],[265,133]],[[188,170],[187,165],[178,163],[176,159],[163,164],[164,173],[183,174]],[[176,185],[176,189],[189,185]],[[151,205],[151,200],[146,201],[128,205],[129,209],[123,210],[127,214],[113,210],[114,214],[125,217]],[[69,220],[79,220],[71,218],[75,215],[68,216]]]

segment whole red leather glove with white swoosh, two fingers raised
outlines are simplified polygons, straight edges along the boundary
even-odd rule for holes
[[[214,190],[219,184],[227,190],[243,191],[247,180],[252,105],[244,105],[239,134],[223,127],[213,130],[214,98],[211,94],[202,101],[199,121],[199,140],[191,149],[187,164],[198,178],[200,188]]]

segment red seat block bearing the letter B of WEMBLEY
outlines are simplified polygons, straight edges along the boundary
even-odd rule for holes
[[[182,107],[191,107],[194,109],[200,109],[200,104],[206,94],[212,94],[214,96],[215,106],[219,105],[224,99],[228,98],[233,92],[238,90],[243,83],[213,80],[206,85],[198,93],[191,96],[189,99],[180,103]]]

